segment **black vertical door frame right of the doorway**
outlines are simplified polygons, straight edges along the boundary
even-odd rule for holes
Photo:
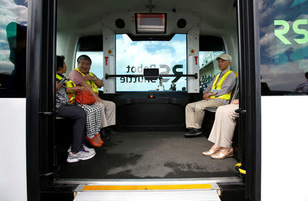
[[[240,133],[245,196],[261,200],[261,79],[257,1],[238,0]]]

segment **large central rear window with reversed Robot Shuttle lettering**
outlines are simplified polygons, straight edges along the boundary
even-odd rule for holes
[[[170,41],[132,41],[127,34],[116,35],[116,74],[143,75],[144,68],[159,68],[160,75],[186,74],[186,35],[175,34]],[[172,85],[175,87],[172,88]],[[186,91],[185,77],[117,77],[117,92]]]

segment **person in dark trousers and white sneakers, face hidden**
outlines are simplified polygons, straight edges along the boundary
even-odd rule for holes
[[[73,163],[91,159],[95,150],[83,144],[86,127],[86,112],[76,104],[68,105],[66,87],[55,83],[55,111],[57,116],[68,118],[73,121],[73,142],[66,161]]]

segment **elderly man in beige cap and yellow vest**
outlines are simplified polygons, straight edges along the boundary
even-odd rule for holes
[[[221,72],[216,75],[203,92],[203,100],[186,105],[185,121],[186,128],[190,129],[185,137],[196,137],[203,133],[201,126],[204,111],[207,107],[219,107],[230,103],[231,93],[236,83],[236,75],[229,70],[232,57],[228,54],[220,55],[218,68]]]

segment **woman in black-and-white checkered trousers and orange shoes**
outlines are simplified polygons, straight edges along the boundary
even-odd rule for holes
[[[101,139],[101,134],[99,130],[101,128],[101,107],[97,105],[85,105],[75,102],[76,92],[87,90],[84,87],[76,86],[75,83],[66,78],[63,73],[66,72],[66,64],[64,62],[64,56],[57,56],[57,79],[66,79],[66,93],[69,100],[69,104],[77,105],[86,111],[86,136],[85,139],[90,142],[92,146],[100,147],[103,144],[103,139]]]

